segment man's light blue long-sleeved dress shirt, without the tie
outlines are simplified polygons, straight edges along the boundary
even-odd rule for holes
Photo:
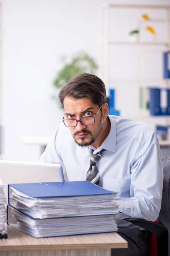
[[[119,193],[118,227],[130,226],[123,218],[155,221],[161,208],[163,167],[159,142],[150,126],[119,116],[108,116],[111,130],[96,166],[100,186]],[[40,157],[42,163],[60,163],[65,181],[85,180],[90,166],[89,147],[75,143],[68,127],[58,126],[54,139]]]

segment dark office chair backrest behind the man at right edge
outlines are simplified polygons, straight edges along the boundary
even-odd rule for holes
[[[164,169],[164,183],[158,222],[168,229],[168,255],[170,256],[170,159],[162,157],[162,162]]]

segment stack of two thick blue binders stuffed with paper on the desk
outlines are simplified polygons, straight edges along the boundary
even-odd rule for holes
[[[117,230],[115,192],[89,181],[8,185],[7,223],[34,237]]]

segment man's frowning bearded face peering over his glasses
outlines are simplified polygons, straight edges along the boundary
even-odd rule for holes
[[[82,117],[94,116],[99,110],[87,97],[82,99],[73,99],[65,97],[64,99],[65,116],[64,119],[77,119]],[[95,122],[91,125],[82,125],[77,122],[76,127],[70,127],[72,136],[79,146],[88,146],[95,142],[102,130],[102,112],[99,111],[95,117]]]

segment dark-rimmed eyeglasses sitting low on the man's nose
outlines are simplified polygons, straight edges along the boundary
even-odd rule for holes
[[[102,106],[99,108],[99,110],[102,108]],[[76,127],[78,122],[81,122],[82,125],[92,125],[95,122],[95,117],[99,113],[99,110],[95,113],[94,116],[85,116],[80,118],[79,120],[77,119],[62,119],[62,122],[65,124],[67,127]]]

